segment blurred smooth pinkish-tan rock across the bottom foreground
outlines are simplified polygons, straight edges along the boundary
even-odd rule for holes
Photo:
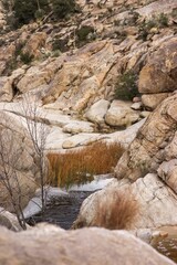
[[[17,236],[14,232],[0,227],[0,263],[7,265],[174,264],[125,231],[83,229],[66,232],[41,225]]]

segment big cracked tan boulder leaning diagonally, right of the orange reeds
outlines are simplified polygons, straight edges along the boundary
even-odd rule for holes
[[[136,180],[147,172],[156,172],[165,159],[177,126],[177,95],[165,99],[147,118],[135,140],[116,166],[118,179]]]

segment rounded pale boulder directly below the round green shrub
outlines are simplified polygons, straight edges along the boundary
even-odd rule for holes
[[[138,120],[139,115],[131,108],[132,103],[114,100],[106,113],[105,121],[111,126],[129,126]]]

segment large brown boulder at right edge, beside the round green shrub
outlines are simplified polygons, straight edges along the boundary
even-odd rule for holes
[[[177,38],[164,42],[139,74],[140,93],[154,94],[177,89]]]

